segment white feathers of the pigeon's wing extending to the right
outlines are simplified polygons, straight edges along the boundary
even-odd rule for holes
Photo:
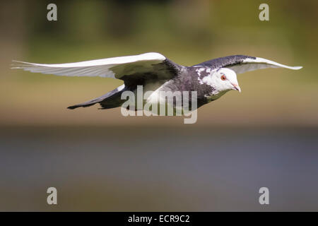
[[[286,66],[284,64],[279,64],[275,61],[270,61],[269,59],[264,59],[261,57],[256,57],[256,59],[247,58],[242,61],[241,64],[235,66],[227,66],[228,69],[232,69],[235,73],[245,73],[247,71],[255,71],[258,69],[267,68],[285,68],[292,70],[302,69],[302,66]]]

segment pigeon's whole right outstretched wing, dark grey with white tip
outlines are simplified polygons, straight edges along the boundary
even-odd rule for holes
[[[293,70],[302,69],[302,66],[286,66],[283,64],[278,64],[274,61],[270,61],[269,59],[264,59],[261,57],[249,57],[244,55],[220,57],[210,61],[205,61],[201,64],[196,64],[194,66],[208,66],[212,69],[228,68],[235,71],[235,73],[245,73],[247,71],[255,71],[258,69],[267,68],[285,68]]]

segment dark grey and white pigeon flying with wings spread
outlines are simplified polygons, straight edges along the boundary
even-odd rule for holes
[[[13,69],[57,76],[99,76],[124,81],[118,88],[94,100],[68,107],[89,107],[99,103],[102,109],[120,107],[126,100],[121,95],[129,90],[136,92],[143,85],[143,92],[153,90],[145,102],[160,95],[160,91],[196,91],[197,107],[218,99],[229,90],[241,91],[237,73],[266,68],[298,70],[301,66],[285,66],[260,57],[235,55],[204,61],[194,66],[175,64],[162,54],[149,52],[135,56],[113,57],[69,64],[33,64],[16,61]]]

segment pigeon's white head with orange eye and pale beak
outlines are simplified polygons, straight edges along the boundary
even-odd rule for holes
[[[218,69],[213,74],[214,77],[214,87],[222,92],[222,91],[229,91],[229,90],[237,90],[241,92],[241,88],[238,85],[237,77],[235,71],[231,69]]]

